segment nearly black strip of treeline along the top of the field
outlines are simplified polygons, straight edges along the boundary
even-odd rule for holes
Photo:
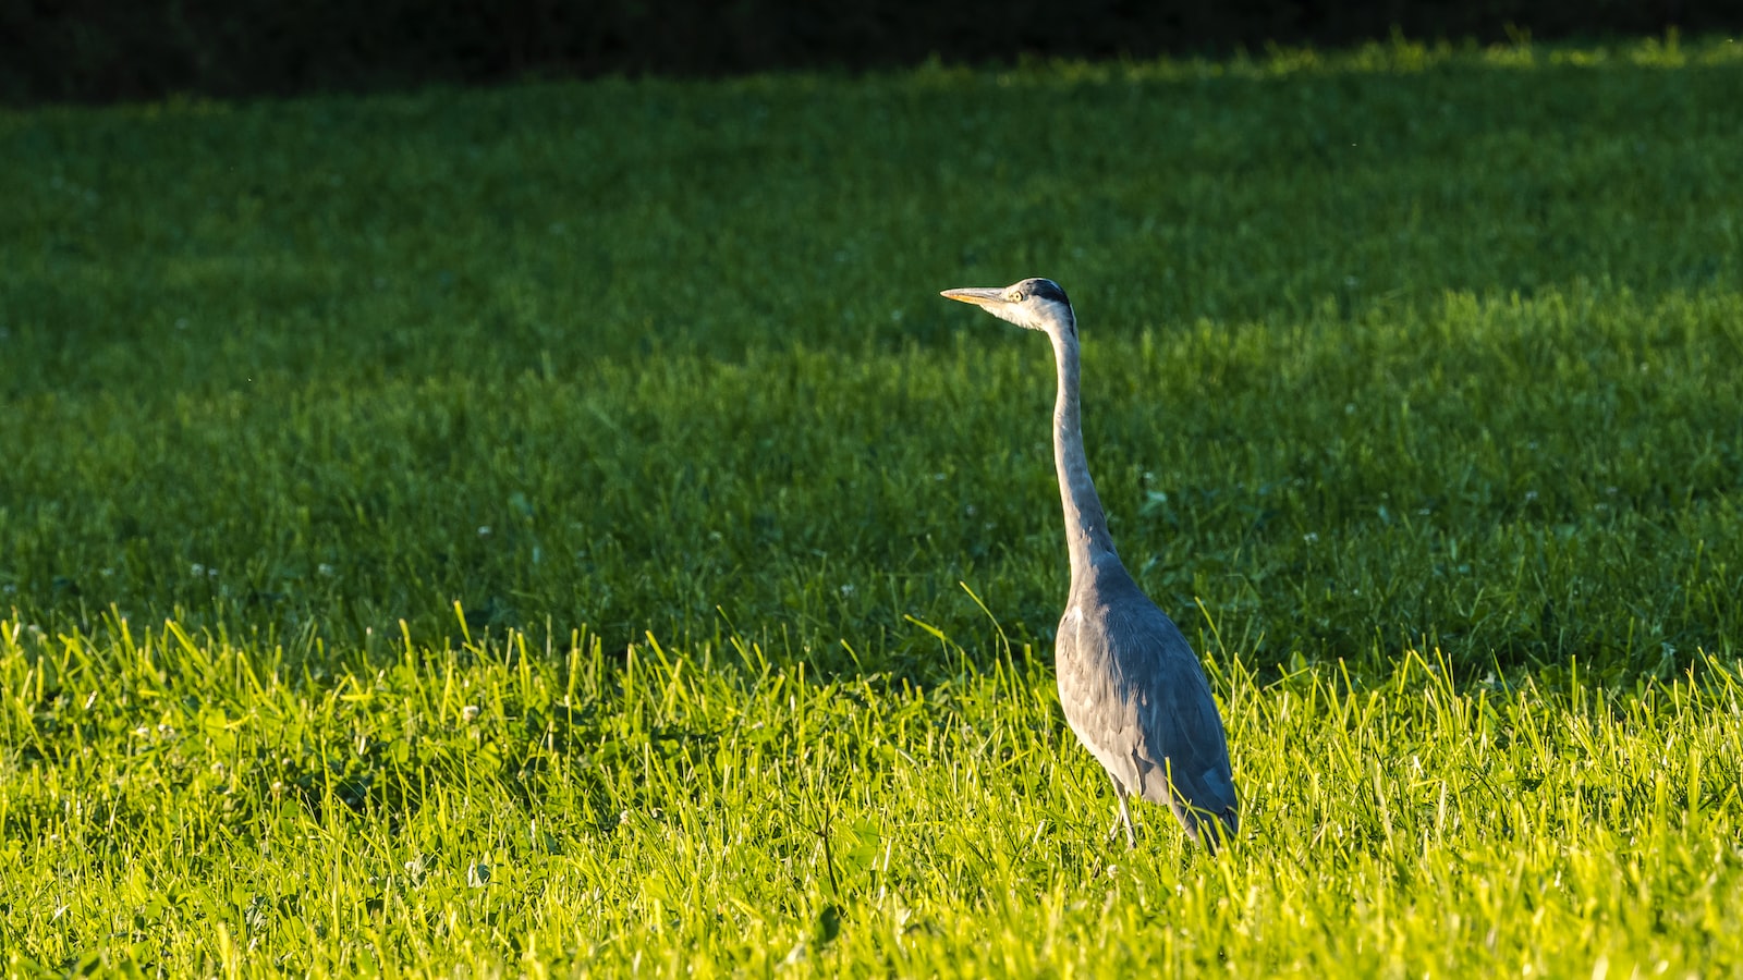
[[[1743,0],[0,0],[0,99],[1727,30]]]

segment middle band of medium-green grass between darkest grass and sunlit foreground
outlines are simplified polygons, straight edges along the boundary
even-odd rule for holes
[[[1189,628],[1203,602],[1260,659],[1428,636],[1466,673],[1579,656],[1612,680],[1733,649],[1736,295],[1454,295],[1133,338],[1082,316],[1116,541]],[[586,380],[24,399],[23,511],[0,516],[14,602],[371,645],[401,617],[450,630],[460,600],[474,626],[553,617],[617,649],[711,635],[718,607],[784,631],[783,657],[845,664],[840,636],[924,663],[903,616],[960,631],[967,581],[1044,642],[1065,582],[1048,350],[971,326]]]

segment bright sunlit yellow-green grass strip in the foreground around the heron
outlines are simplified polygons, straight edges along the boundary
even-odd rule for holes
[[[1238,664],[1246,837],[1210,860],[1156,807],[1138,851],[1103,842],[1103,779],[1028,650],[945,645],[962,673],[919,687],[511,633],[317,678],[176,626],[3,626],[24,973],[1743,961],[1734,673],[1556,694],[1461,692],[1421,657],[1367,689]]]

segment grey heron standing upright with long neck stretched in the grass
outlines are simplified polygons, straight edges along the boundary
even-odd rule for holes
[[[1072,563],[1072,591],[1053,659],[1065,720],[1114,779],[1119,809],[1109,837],[1124,827],[1126,846],[1136,847],[1126,806],[1136,795],[1168,804],[1187,837],[1215,849],[1220,835],[1232,839],[1239,820],[1229,739],[1203,664],[1180,628],[1131,581],[1107,532],[1107,514],[1084,460],[1072,303],[1051,279],[943,295],[1053,340],[1060,373],[1053,464]]]

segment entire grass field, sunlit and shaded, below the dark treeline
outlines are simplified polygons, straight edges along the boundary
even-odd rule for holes
[[[1743,973],[1743,45],[0,115],[12,975]],[[1058,279],[1243,837],[1058,713]]]

